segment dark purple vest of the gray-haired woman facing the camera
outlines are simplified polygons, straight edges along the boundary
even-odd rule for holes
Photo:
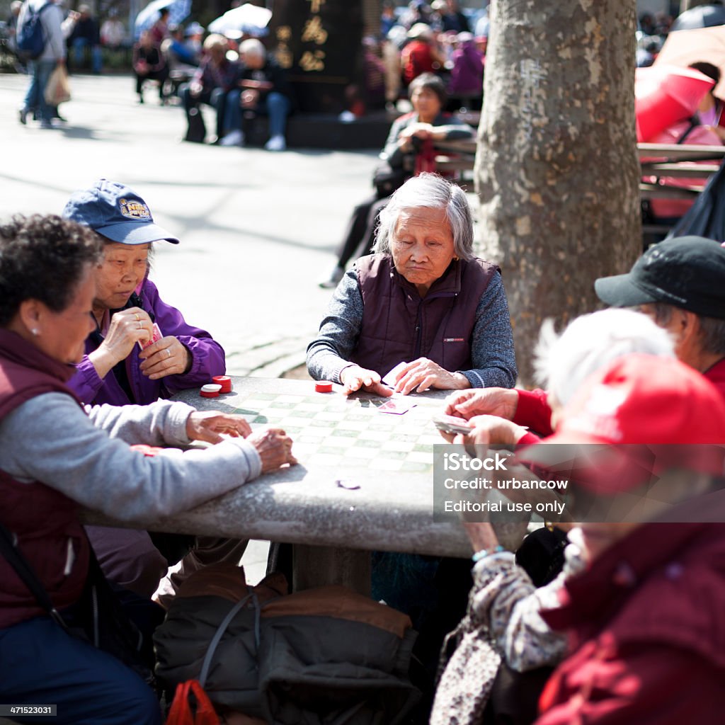
[[[497,266],[453,261],[423,298],[389,254],[360,257],[355,266],[364,311],[352,362],[380,375],[418,357],[450,372],[471,368],[476,309]]]

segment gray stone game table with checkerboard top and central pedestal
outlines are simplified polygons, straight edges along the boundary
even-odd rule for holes
[[[219,397],[191,389],[174,399],[198,410],[240,413],[252,428],[284,428],[299,464],[193,510],[133,526],[289,542],[295,590],[345,584],[369,593],[371,550],[471,555],[460,523],[433,520],[433,445],[444,440],[431,417],[442,411],[446,391],[408,396],[415,407],[395,415],[378,410],[386,399],[345,397],[341,386],[317,393],[311,381],[232,381],[233,391]]]

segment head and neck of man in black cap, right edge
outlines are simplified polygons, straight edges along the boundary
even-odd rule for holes
[[[629,273],[595,282],[613,307],[637,307],[668,330],[675,354],[725,397],[725,249],[700,236],[666,239]]]

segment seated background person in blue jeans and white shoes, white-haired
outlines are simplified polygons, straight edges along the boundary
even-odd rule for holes
[[[261,114],[269,117],[268,151],[284,151],[287,147],[285,130],[291,109],[291,89],[284,70],[269,57],[257,38],[249,38],[239,46],[241,69],[238,88],[229,91],[224,126],[226,135],[222,146],[244,146],[242,115]]]

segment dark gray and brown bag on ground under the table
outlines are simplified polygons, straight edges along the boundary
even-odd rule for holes
[[[345,587],[286,591],[278,573],[249,587],[229,563],[194,572],[154,634],[162,684],[196,680],[247,725],[405,723],[420,695],[410,618]]]

